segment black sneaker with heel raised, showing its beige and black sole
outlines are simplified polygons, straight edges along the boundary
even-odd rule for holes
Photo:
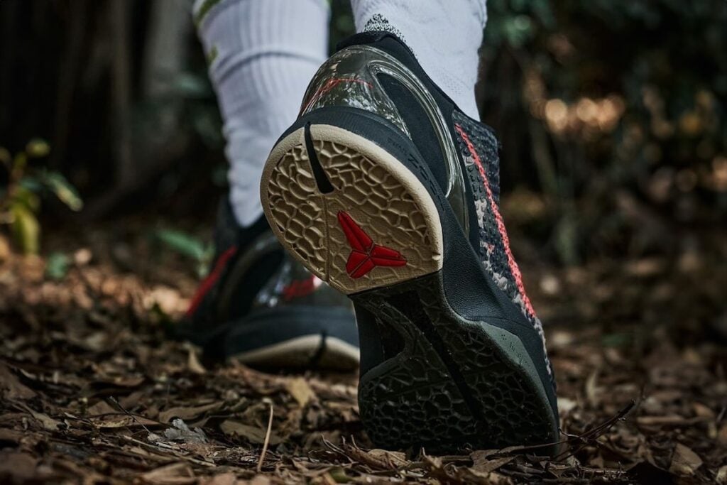
[[[356,307],[358,402],[377,446],[556,449],[553,372],[499,215],[497,153],[491,129],[383,32],[340,45],[270,153],[273,232]]]

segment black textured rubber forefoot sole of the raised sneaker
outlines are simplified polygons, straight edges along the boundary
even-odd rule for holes
[[[557,441],[557,422],[521,342],[454,313],[441,272],[352,299],[404,342],[359,383],[361,420],[377,445],[452,452]]]

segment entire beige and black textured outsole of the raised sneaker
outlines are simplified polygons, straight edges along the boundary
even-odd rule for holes
[[[294,257],[348,294],[357,313],[401,336],[401,351],[359,382],[361,420],[374,444],[451,452],[556,441],[557,417],[521,340],[459,316],[446,299],[440,215],[405,164],[347,129],[306,124],[273,148],[261,198]],[[356,248],[342,213],[369,238],[361,236],[364,246],[398,252],[406,265],[352,273]]]

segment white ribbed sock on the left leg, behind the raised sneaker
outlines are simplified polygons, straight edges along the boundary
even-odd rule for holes
[[[261,215],[260,177],[326,59],[326,0],[196,0],[194,15],[225,121],[230,204],[240,225]]]

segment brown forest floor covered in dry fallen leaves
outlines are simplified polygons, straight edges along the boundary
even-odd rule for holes
[[[437,457],[371,449],[356,375],[203,364],[165,336],[196,284],[188,265],[143,237],[88,234],[55,242],[73,255],[62,281],[0,236],[2,483],[727,484],[727,282],[709,258],[526,262],[563,453]]]

